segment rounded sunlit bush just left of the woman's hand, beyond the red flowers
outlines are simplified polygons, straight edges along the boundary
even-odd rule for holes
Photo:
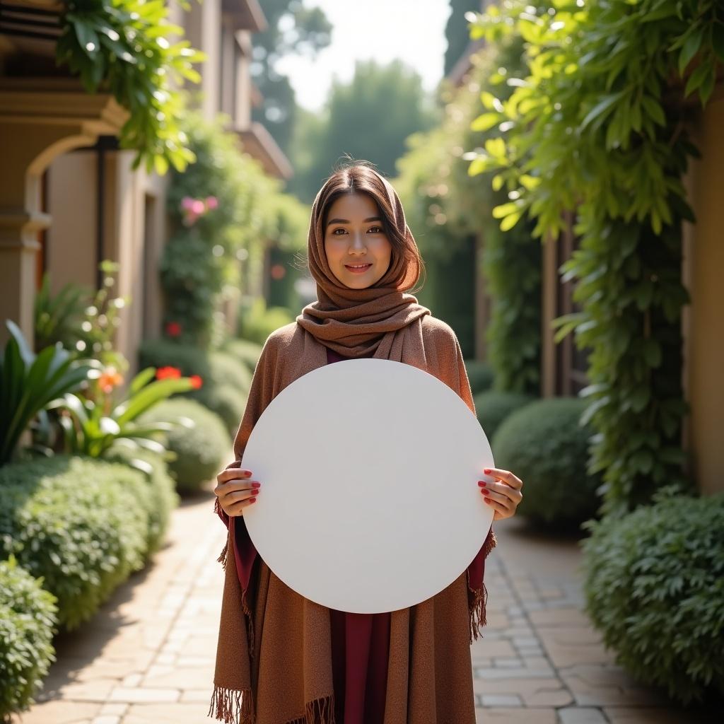
[[[180,397],[165,400],[143,413],[144,422],[180,417],[190,418],[195,426],[178,426],[167,433],[167,447],[177,455],[177,459],[169,463],[169,469],[176,479],[177,489],[198,490],[224,467],[232,441],[219,416],[194,400]]]

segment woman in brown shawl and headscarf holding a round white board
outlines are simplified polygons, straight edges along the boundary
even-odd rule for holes
[[[405,293],[422,260],[400,199],[374,169],[353,164],[324,183],[312,207],[308,264],[318,300],[266,341],[235,462],[217,476],[216,512],[231,545],[219,557],[226,577],[209,715],[236,724],[474,724],[470,643],[485,622],[492,531],[445,591],[374,615],[301,597],[269,571],[248,537],[243,513],[257,500],[264,505],[264,482],[240,469],[246,442],[266,405],[303,374],[343,359],[391,359],[434,374],[475,411],[455,333]],[[497,520],[513,515],[520,479],[481,472],[496,481],[471,481],[480,505]]]

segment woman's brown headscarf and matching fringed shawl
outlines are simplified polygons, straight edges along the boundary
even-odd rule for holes
[[[390,269],[363,290],[341,285],[324,254],[327,210],[340,193],[353,191],[374,198],[393,247]],[[330,177],[313,205],[308,258],[319,299],[266,341],[229,468],[241,466],[266,405],[295,379],[324,366],[327,347],[424,369],[474,413],[454,332],[405,293],[416,284],[421,261],[397,194],[384,178],[359,165]],[[230,518],[227,546],[219,556],[224,593],[209,715],[228,724],[334,724],[329,609],[292,591],[261,558],[255,564],[254,600],[249,600],[237,576],[235,521]],[[495,545],[492,531],[481,543],[487,555]],[[392,612],[382,724],[474,724],[470,643],[485,623],[486,597],[483,585],[471,588],[466,570],[434,597]]]

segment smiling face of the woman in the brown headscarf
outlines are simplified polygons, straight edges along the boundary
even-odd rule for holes
[[[366,289],[384,277],[392,244],[371,196],[345,193],[329,206],[324,253],[332,274],[345,287]]]

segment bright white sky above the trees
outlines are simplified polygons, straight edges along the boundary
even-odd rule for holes
[[[315,60],[287,56],[277,63],[289,77],[297,103],[319,111],[334,77],[352,79],[355,61],[400,59],[422,77],[432,91],[442,77],[447,41],[447,0],[304,0],[321,7],[332,23],[332,43]]]

